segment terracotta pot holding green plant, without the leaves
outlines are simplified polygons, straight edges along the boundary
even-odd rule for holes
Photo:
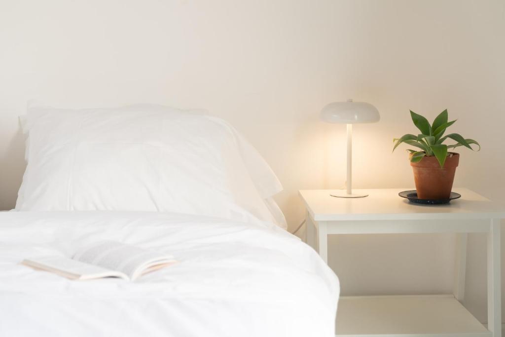
[[[420,199],[449,199],[460,155],[449,152],[443,168],[435,156],[426,156],[412,163],[417,196]]]

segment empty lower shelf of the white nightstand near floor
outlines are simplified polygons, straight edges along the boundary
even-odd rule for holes
[[[491,332],[452,295],[344,296],[336,335],[484,337]]]

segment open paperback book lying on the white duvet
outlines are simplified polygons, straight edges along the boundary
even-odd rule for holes
[[[79,249],[72,258],[44,257],[26,259],[21,263],[70,279],[120,277],[133,281],[143,274],[175,262],[171,255],[116,241],[100,241]]]

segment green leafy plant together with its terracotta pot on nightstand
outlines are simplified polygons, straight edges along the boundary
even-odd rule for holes
[[[454,174],[458,166],[460,155],[449,152],[460,146],[469,148],[471,144],[480,145],[474,139],[463,138],[458,133],[450,133],[444,136],[445,130],[454,124],[456,120],[448,122],[447,109],[442,111],[433,121],[428,120],[410,112],[414,125],[421,131],[417,136],[414,134],[405,134],[400,138],[395,138],[393,151],[401,143],[407,143],[419,150],[408,150],[412,169],[414,171],[414,181],[418,198],[420,199],[448,199],[454,181]],[[446,145],[446,140],[456,141],[455,144]]]

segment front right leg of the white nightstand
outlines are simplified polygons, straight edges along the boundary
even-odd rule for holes
[[[501,337],[500,219],[491,219],[487,235],[487,329]]]

